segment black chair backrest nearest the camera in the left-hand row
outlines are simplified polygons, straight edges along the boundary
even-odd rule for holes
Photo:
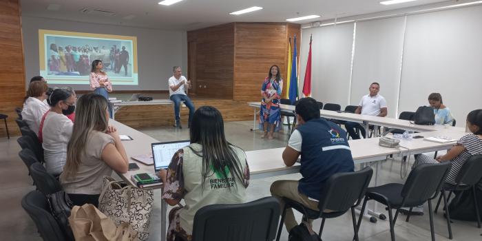
[[[23,209],[34,220],[36,228],[45,241],[67,240],[59,224],[50,213],[47,198],[40,191],[30,191],[21,201]]]

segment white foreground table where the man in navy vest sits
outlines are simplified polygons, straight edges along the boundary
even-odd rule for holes
[[[357,115],[359,116],[359,115]],[[133,140],[123,141],[123,145],[126,149],[127,156],[138,156],[142,154],[151,154],[151,143],[158,143],[158,140],[151,138],[142,132],[118,123],[117,121],[110,120],[109,125],[114,125],[119,134],[127,134],[133,138]],[[431,136],[446,136],[453,139],[459,139],[465,135],[465,130],[461,131],[461,128],[442,128],[434,131],[417,133],[419,136],[431,137]],[[423,138],[401,140],[399,148],[381,147],[378,145],[379,138],[365,138],[359,140],[349,140],[350,149],[352,152],[355,165],[365,165],[368,163],[375,163],[375,185],[378,185],[379,174],[379,162],[386,160],[388,156],[409,156],[413,154],[422,154],[431,151],[441,151],[450,149],[452,143],[435,143]],[[282,148],[273,149],[261,149],[255,151],[246,151],[247,162],[250,169],[250,176],[252,179],[266,178],[273,176],[280,176],[285,174],[295,174],[300,171],[300,164],[295,163],[292,167],[286,167],[282,161]],[[131,176],[140,173],[153,173],[154,166],[145,165],[136,160],[129,160],[130,163],[137,163],[138,170],[127,171],[126,174],[118,174],[129,185],[135,186],[136,184],[131,180]],[[162,189],[163,185],[155,185],[148,187],[151,189]],[[378,215],[375,212],[375,206],[372,215]],[[161,240],[165,240],[167,231],[167,203],[161,200]]]

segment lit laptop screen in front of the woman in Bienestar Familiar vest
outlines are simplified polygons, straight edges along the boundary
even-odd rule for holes
[[[166,143],[152,143],[152,157],[154,159],[154,172],[158,174],[160,169],[166,169],[171,163],[172,156],[187,145],[190,140],[169,141]]]

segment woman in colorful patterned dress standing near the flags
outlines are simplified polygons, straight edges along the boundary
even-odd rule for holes
[[[273,139],[273,132],[281,127],[280,96],[283,90],[283,80],[280,68],[273,65],[269,68],[268,77],[264,78],[261,87],[260,129],[264,133],[261,138]],[[268,134],[269,131],[269,134]]]

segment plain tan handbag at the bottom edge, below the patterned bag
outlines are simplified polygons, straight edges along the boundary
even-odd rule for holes
[[[94,205],[74,206],[69,217],[75,240],[138,241],[136,231],[128,223],[116,225]]]

